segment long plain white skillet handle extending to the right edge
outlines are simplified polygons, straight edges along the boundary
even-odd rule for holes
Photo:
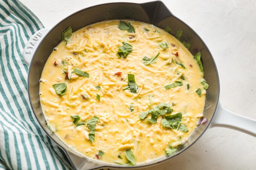
[[[226,127],[256,137],[256,120],[230,112],[219,103],[210,127]]]

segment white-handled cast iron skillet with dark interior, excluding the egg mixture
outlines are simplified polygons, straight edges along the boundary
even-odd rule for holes
[[[198,36],[198,34],[195,33],[195,31],[192,30],[192,28],[190,28],[183,21],[175,17],[165,6],[165,4],[162,3],[162,1],[152,1],[142,4],[100,4],[73,13],[72,15],[60,21],[50,30],[44,28],[37,31],[27,42],[27,45],[23,51],[24,61],[27,63],[27,65],[30,65],[28,74],[28,93],[34,114],[48,136],[51,137],[51,139],[54,140],[66,152],[74,169],[133,167],[121,166],[117,164],[107,164],[85,158],[78,152],[70,149],[52,131],[49,130],[44,119],[39,98],[39,80],[44,68],[44,64],[51,54],[52,49],[61,41],[61,32],[64,31],[67,27],[71,26],[72,30],[76,31],[79,28],[94,22],[99,22],[106,19],[125,18],[150,23],[163,29],[168,25],[172,29],[172,33],[175,33],[178,29],[182,28],[183,39],[181,40],[191,43],[191,47],[189,49],[190,52],[195,55],[198,51],[201,51],[201,60],[204,67],[204,78],[209,84],[204,108],[204,117],[208,119],[208,122],[198,125],[187,142],[178,149],[178,152],[171,155],[171,157],[158,158],[157,160],[151,161],[150,163],[137,164],[133,167],[138,168],[162,163],[163,161],[169,160],[175,155],[180,154],[189,148],[189,146],[191,146],[193,143],[195,143],[197,139],[199,139],[204,131],[206,131],[211,121],[212,127],[229,127],[256,136],[255,120],[231,113],[228,110],[222,108],[220,104],[218,104],[219,78],[213,57],[209,49],[204,44],[203,40],[201,40],[201,38]]]

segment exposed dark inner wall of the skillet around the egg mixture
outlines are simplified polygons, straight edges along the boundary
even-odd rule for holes
[[[204,78],[209,84],[209,89],[207,90],[206,95],[206,104],[204,110],[204,117],[206,117],[209,121],[207,124],[199,125],[192,136],[187,140],[187,142],[180,147],[179,151],[172,155],[178,155],[180,152],[187,149],[191,146],[208,127],[214,113],[216,106],[218,104],[219,97],[219,79],[218,72],[210,54],[209,49],[204,44],[203,40],[183,21],[176,18],[172,15],[172,13],[168,10],[168,8],[161,1],[154,1],[144,4],[135,4],[135,3],[108,3],[101,4],[98,6],[89,7],[87,9],[80,10],[66,19],[63,19],[59,22],[55,27],[53,27],[49,33],[44,37],[43,41],[38,46],[34,57],[31,61],[28,75],[28,92],[30,103],[32,105],[32,109],[35,113],[36,118],[40,122],[43,129],[46,133],[59,145],[61,148],[77,155],[75,151],[72,151],[68,148],[54,133],[52,133],[45,122],[43,112],[40,105],[39,98],[39,81],[41,77],[41,73],[46,63],[49,55],[52,52],[52,49],[59,44],[61,41],[61,32],[64,31],[67,27],[71,26],[73,31],[78,30],[88,24],[92,24],[94,22],[103,21],[106,19],[134,19],[137,21],[146,22],[149,24],[153,24],[157,27],[165,29],[166,25],[168,25],[172,29],[172,34],[182,28],[183,37],[181,40],[189,42],[191,44],[190,52],[195,55],[198,51],[201,51],[201,60],[203,62],[204,67]],[[211,106],[211,107],[209,107]],[[209,109],[206,109],[209,107]],[[71,155],[73,155],[71,154]],[[75,158],[75,155],[70,156],[73,160],[73,166],[78,168],[79,164],[85,161],[84,158]],[[171,158],[169,157],[169,158]],[[160,158],[155,161],[151,161],[150,163],[140,164],[138,166],[148,166],[155,163],[160,163],[164,160],[168,160],[169,158]],[[94,161],[95,162],[95,161]],[[118,165],[111,166],[110,164],[101,163],[102,166],[108,165],[108,167],[118,167]]]

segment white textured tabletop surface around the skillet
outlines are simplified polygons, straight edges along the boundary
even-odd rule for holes
[[[79,9],[113,2],[21,1],[38,16],[44,27],[52,27]],[[200,35],[212,52],[219,72],[222,105],[235,113],[256,119],[256,1],[163,2],[175,16]],[[148,169],[253,170],[256,169],[256,138],[226,128],[209,129],[187,151],[166,163]]]

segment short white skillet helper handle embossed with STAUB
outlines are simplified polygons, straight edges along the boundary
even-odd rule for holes
[[[43,28],[41,30],[38,30],[27,41],[22,54],[24,62],[27,64],[27,66],[30,65],[38,45],[43,40],[44,36],[46,36],[46,34],[49,32],[49,30],[49,28]]]

